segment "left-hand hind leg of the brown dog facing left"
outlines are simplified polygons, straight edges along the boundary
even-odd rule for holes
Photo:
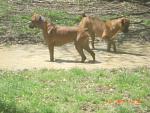
[[[75,48],[76,48],[76,50],[78,51],[78,53],[80,54],[80,56],[82,58],[81,62],[84,63],[85,60],[86,60],[86,56],[84,55],[83,47],[81,47],[78,42],[75,42]]]

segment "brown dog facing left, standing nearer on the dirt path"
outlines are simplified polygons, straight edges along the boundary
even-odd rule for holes
[[[75,48],[81,56],[81,62],[86,60],[83,49],[91,54],[95,61],[95,53],[89,47],[89,35],[84,28],[57,26],[53,23],[48,23],[47,20],[38,14],[32,16],[30,28],[40,28],[43,31],[44,39],[48,45],[50,52],[50,61],[54,61],[54,46],[74,42]]]

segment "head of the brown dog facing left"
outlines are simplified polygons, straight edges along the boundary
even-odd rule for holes
[[[43,16],[39,14],[33,14],[29,27],[42,28],[45,24],[46,24],[46,19]]]

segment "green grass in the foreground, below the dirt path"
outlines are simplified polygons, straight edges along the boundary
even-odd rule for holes
[[[1,71],[0,113],[148,112],[149,81],[147,68]]]

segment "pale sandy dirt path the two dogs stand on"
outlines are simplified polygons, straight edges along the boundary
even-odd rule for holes
[[[96,62],[91,63],[91,56],[80,63],[80,56],[73,43],[55,48],[55,62],[49,61],[48,48],[43,44],[36,45],[0,45],[0,69],[70,69],[74,67],[93,69],[150,67],[150,43],[124,42],[118,46],[118,52],[106,51],[106,44],[96,43]]]

